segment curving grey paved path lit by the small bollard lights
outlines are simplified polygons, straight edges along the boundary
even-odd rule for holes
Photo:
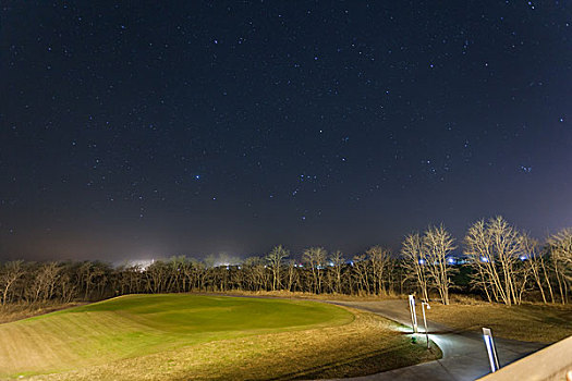
[[[382,302],[331,302],[353,308],[360,308],[394,320],[411,328],[407,300]],[[423,318],[417,316],[423,332]],[[490,372],[488,356],[480,332],[460,332],[442,324],[427,321],[429,339],[442,351],[440,360],[414,365],[382,373],[358,377],[355,381],[374,380],[475,380]],[[495,332],[492,332],[495,333]],[[518,342],[495,339],[499,362],[502,366],[515,361],[546,346],[538,343]]]

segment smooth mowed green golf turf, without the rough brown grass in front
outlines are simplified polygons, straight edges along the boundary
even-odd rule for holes
[[[0,378],[61,372],[178,347],[334,327],[354,316],[306,300],[130,295],[0,324]]]

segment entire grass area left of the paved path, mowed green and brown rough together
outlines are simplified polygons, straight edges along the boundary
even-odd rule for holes
[[[357,376],[439,356],[369,314],[307,300],[180,294],[56,311],[0,324],[0,335],[3,379]]]

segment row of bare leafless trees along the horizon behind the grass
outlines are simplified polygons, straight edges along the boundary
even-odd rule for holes
[[[460,247],[439,225],[407,234],[399,253],[373,246],[352,258],[322,247],[309,247],[293,256],[279,245],[265,256],[222,266],[185,256],[147,267],[13,260],[0,266],[0,302],[70,303],[137,293],[288,291],[379,296],[416,293],[423,299],[449,304],[454,291],[506,305],[523,300],[567,304],[571,282],[572,229],[540,243],[496,217],[471,225]]]

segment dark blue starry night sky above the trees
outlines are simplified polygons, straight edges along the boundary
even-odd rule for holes
[[[0,259],[572,225],[567,1],[2,1]]]

